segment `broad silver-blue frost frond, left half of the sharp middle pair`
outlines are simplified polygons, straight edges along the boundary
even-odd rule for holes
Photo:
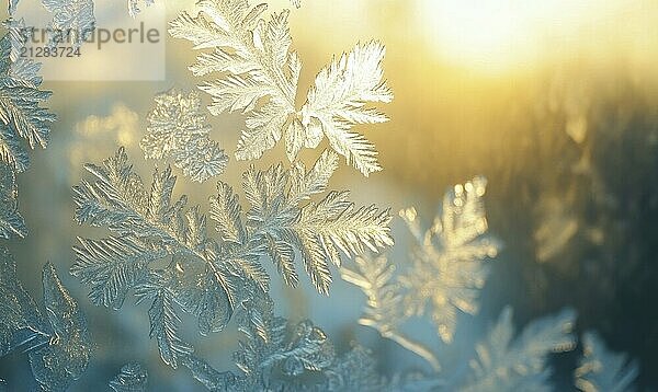
[[[177,333],[178,310],[196,315],[203,333],[222,330],[236,303],[235,275],[207,239],[205,217],[197,208],[185,210],[186,197],[172,200],[170,169],[156,170],[148,189],[123,148],[102,166],[86,168],[93,181],[73,187],[76,220],[106,227],[112,235],[80,239],[71,273],[90,286],[97,304],[118,309],[133,288],[140,301],[150,301],[151,337],[175,367],[191,351]],[[168,265],[154,266],[158,261]]]

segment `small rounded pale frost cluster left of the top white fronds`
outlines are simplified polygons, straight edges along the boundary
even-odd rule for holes
[[[171,158],[185,176],[204,182],[224,172],[228,157],[209,138],[211,126],[200,107],[196,93],[184,95],[171,90],[156,96],[147,135],[139,146],[146,158]]]

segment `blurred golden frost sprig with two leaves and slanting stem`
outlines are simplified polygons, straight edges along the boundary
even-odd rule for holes
[[[400,211],[418,243],[410,268],[396,275],[396,266],[379,256],[358,258],[355,268],[341,269],[343,279],[367,297],[360,323],[415,350],[434,368],[439,364],[433,356],[397,331],[406,319],[429,314],[439,336],[450,343],[458,312],[477,312],[479,289],[488,275],[487,260],[496,256],[499,247],[486,235],[485,187],[484,177],[454,186],[445,194],[441,216],[427,231],[421,230],[413,208]]]

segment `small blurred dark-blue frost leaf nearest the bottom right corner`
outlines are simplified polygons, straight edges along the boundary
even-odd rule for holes
[[[639,367],[624,354],[608,350],[598,334],[588,332],[582,338],[582,357],[576,369],[576,387],[583,392],[634,391]]]

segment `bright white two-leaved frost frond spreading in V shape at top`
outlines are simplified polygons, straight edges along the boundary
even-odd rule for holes
[[[247,114],[236,158],[260,158],[282,138],[294,161],[302,148],[316,148],[327,137],[331,148],[364,175],[381,170],[374,146],[352,128],[387,117],[368,102],[390,102],[383,81],[384,46],[356,45],[333,59],[316,77],[300,109],[295,106],[302,62],[291,51],[288,12],[261,15],[266,4],[246,0],[202,0],[198,14],[183,12],[170,24],[173,37],[192,42],[198,55],[190,70],[200,77],[218,74],[200,89],[213,97],[211,113]]]

